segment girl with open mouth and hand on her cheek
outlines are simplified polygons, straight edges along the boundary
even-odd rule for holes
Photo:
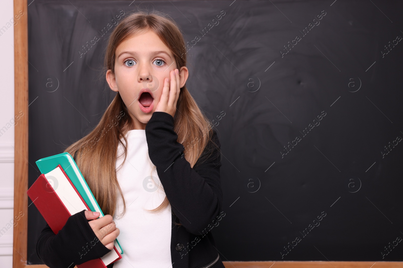
[[[116,96],[65,151],[105,216],[83,210],[56,235],[46,225],[39,258],[73,268],[118,237],[123,258],[108,268],[223,268],[210,231],[225,216],[220,142],[185,86],[181,31],[159,12],[133,13],[111,33],[104,65]]]

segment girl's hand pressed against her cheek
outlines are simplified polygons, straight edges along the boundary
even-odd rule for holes
[[[179,70],[172,70],[170,71],[169,75],[170,78],[164,79],[164,88],[162,88],[162,95],[154,112],[165,112],[174,117],[179,93],[181,92],[181,89],[179,88]]]

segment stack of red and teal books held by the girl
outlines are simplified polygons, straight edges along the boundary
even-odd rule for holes
[[[83,175],[69,153],[60,153],[36,162],[42,173],[28,189],[27,194],[42,214],[52,231],[57,234],[67,219],[87,209],[104,216]],[[113,250],[102,258],[77,265],[78,268],[106,268],[120,260],[123,250],[118,239]]]

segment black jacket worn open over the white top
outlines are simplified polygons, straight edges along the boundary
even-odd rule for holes
[[[148,153],[171,205],[172,268],[224,268],[211,230],[225,216],[221,153],[210,141],[191,168],[173,127],[173,117],[164,112],[154,112],[145,127]],[[220,148],[217,133],[213,133],[212,141]],[[56,235],[48,224],[42,229],[36,252],[44,264],[50,268],[73,268],[110,252],[96,237],[84,211],[71,215]],[[113,263],[107,267],[112,268]]]

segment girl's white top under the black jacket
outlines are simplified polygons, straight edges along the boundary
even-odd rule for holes
[[[170,205],[160,213],[144,210],[155,209],[165,198],[155,166],[148,156],[145,130],[130,130],[126,137],[127,158],[120,170],[116,171],[126,212],[122,217],[123,201],[118,194],[114,216],[116,227],[120,230],[118,240],[123,254],[122,259],[114,262],[113,268],[172,268]],[[122,141],[125,142],[123,138]],[[122,152],[123,146],[119,144],[116,169],[123,163]]]

